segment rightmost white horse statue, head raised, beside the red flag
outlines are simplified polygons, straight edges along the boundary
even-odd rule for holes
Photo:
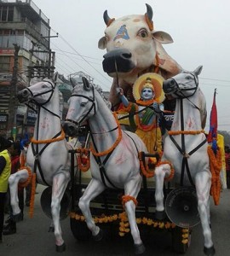
[[[210,160],[208,143],[204,134],[206,102],[198,87],[202,66],[193,72],[182,72],[164,81],[166,96],[176,98],[175,116],[164,141],[162,165],[156,167],[156,213],[164,212],[164,178],[175,169],[173,181],[180,186],[196,189],[198,213],[204,234],[204,253],[214,255],[215,248],[210,230]],[[167,163],[169,161],[169,164]]]

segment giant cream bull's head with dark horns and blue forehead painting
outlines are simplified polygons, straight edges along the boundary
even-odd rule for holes
[[[118,20],[111,19],[104,13],[107,25],[105,37],[99,41],[100,49],[107,49],[104,55],[103,68],[106,73],[116,77],[130,77],[136,79],[136,75],[151,67],[157,55],[157,43],[172,43],[173,40],[166,32],[157,32],[153,29],[152,8],[147,4],[145,15],[127,15]],[[124,73],[124,74],[122,74]],[[134,81],[127,82],[133,83]]]

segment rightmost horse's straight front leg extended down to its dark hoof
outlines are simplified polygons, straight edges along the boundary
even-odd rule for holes
[[[204,253],[214,255],[215,248],[210,230],[210,178],[209,172],[199,172],[195,177],[195,185],[198,197],[198,212],[204,235]]]

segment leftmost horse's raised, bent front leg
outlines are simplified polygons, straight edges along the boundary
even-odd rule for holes
[[[9,176],[9,190],[10,190],[10,205],[12,207],[15,220],[17,216],[20,217],[19,197],[18,197],[18,183],[25,182],[29,177],[27,170],[15,172]]]

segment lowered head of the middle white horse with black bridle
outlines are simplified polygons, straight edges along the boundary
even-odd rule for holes
[[[66,114],[66,121],[63,124],[63,129],[68,136],[76,136],[79,131],[79,126],[95,114],[95,89],[89,81],[83,79],[83,84],[77,84],[71,79],[73,86],[72,96],[69,99],[69,109]]]

